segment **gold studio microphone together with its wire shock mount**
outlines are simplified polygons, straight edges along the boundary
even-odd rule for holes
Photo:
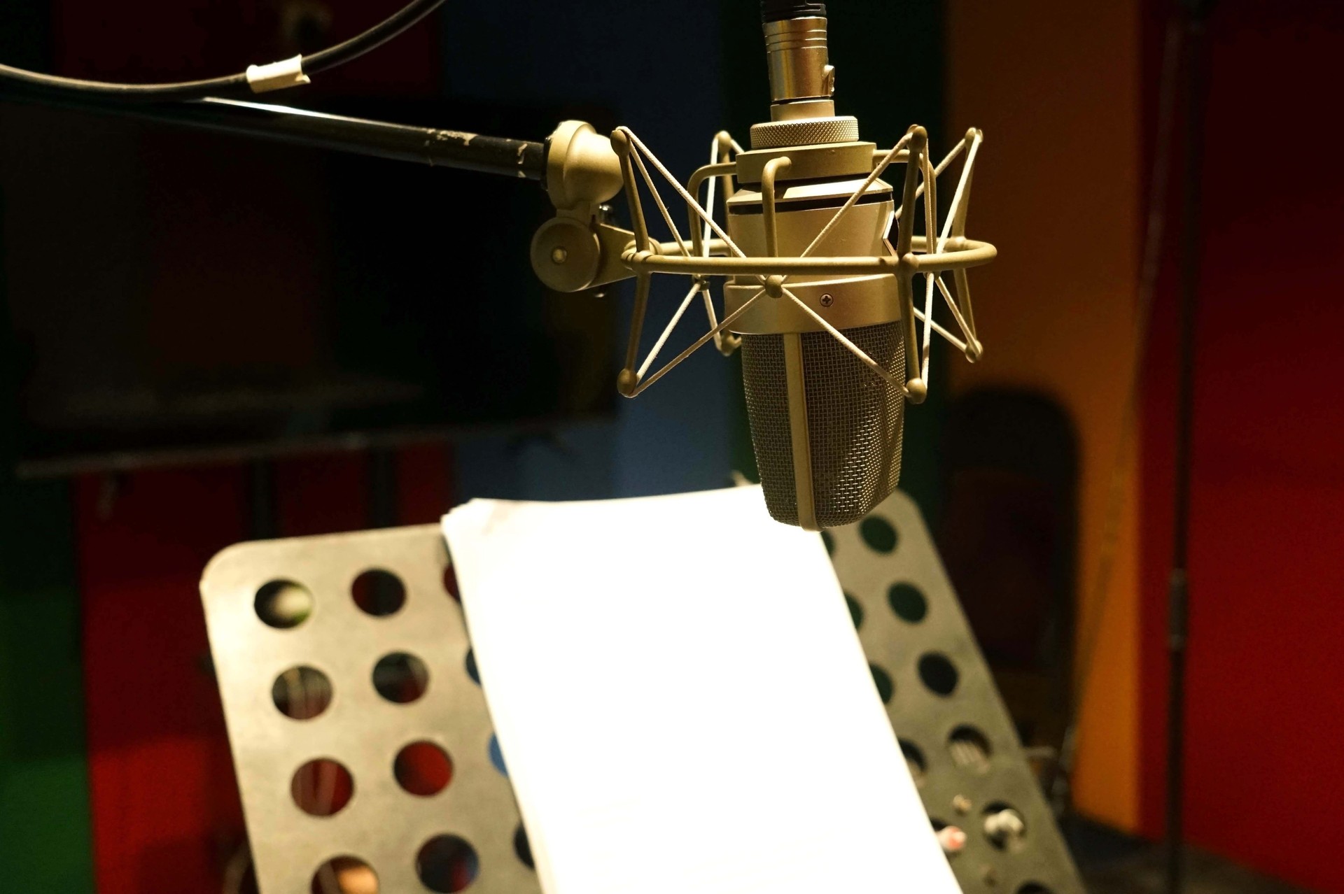
[[[761,11],[771,105],[770,121],[751,128],[751,148],[718,134],[710,164],[683,187],[629,128],[606,141],[587,125],[560,125],[546,162],[558,215],[534,238],[532,264],[547,285],[566,291],[636,277],[617,380],[628,397],[710,341],[724,354],[741,348],[766,509],[780,522],[820,530],[859,521],[895,490],[905,404],[927,393],[931,334],[970,361],[981,356],[966,270],[992,260],[996,250],[968,239],[965,226],[984,137],[970,129],[937,165],[923,128],[910,128],[890,149],[862,140],[859,122],[836,114],[825,5],[762,0]],[[939,228],[937,177],[958,156],[961,175]],[[905,164],[899,196],[882,180],[894,164]],[[685,204],[688,239],[650,168]],[[617,179],[633,232],[609,220],[605,201],[617,192]],[[714,219],[720,181],[727,231]],[[644,195],[672,242],[650,236]],[[689,275],[692,285],[637,364],[653,274]],[[722,319],[711,299],[714,277],[726,277]],[[923,277],[922,309],[914,301],[915,277]],[[958,332],[934,321],[935,294]],[[649,373],[696,295],[710,332]]]

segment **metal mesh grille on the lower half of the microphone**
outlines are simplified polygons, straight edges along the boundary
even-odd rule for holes
[[[905,369],[899,322],[844,334],[888,372]],[[801,341],[817,525],[839,528],[867,515],[896,489],[905,399],[831,333],[802,333]],[[784,338],[742,336],[742,379],[766,509],[774,519],[797,525]]]

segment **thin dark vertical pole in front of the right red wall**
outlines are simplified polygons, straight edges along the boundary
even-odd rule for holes
[[[1172,566],[1168,579],[1169,678],[1167,689],[1167,891],[1184,886],[1185,655],[1189,640],[1191,438],[1195,416],[1195,330],[1199,311],[1199,204],[1204,149],[1207,0],[1181,0],[1185,12],[1185,142],[1181,183],[1180,336],[1177,346],[1176,456]]]

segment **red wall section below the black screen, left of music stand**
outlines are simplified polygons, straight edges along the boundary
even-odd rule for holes
[[[450,454],[396,455],[396,514],[433,522],[450,505]],[[276,464],[281,536],[367,526],[363,455]],[[220,890],[242,811],[198,583],[247,537],[239,467],[79,482],[79,583],[89,788],[101,894]]]

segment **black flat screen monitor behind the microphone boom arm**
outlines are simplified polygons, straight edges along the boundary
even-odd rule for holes
[[[531,140],[574,113],[323,110]],[[536,282],[535,181],[0,103],[0,213],[22,474],[614,409],[614,302]]]

